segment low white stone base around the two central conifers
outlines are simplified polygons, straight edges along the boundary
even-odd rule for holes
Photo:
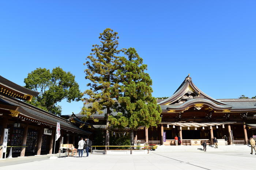
[[[106,154],[106,155],[131,155],[131,150],[93,150],[93,154]],[[148,154],[147,150],[133,150],[132,155]]]

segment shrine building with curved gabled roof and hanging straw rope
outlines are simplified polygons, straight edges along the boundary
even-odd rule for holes
[[[135,141],[157,145],[174,145],[174,137],[181,138],[182,145],[213,144],[225,145],[224,135],[231,144],[248,144],[248,138],[256,135],[256,99],[214,99],[201,91],[188,75],[180,87],[167,99],[157,99],[162,108],[162,122],[157,127],[139,127]],[[90,107],[91,103],[86,103]],[[95,114],[99,122],[93,127],[104,130],[103,114]],[[116,115],[117,112],[112,112]],[[81,113],[75,115],[82,118]]]

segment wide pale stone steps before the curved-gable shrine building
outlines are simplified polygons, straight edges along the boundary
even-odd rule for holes
[[[196,152],[203,151],[203,146],[158,146],[156,152]],[[213,145],[207,145],[206,151],[212,152],[251,152],[250,145],[219,145],[218,149]]]

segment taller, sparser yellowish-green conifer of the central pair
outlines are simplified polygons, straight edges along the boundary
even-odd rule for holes
[[[121,67],[122,61],[120,60],[120,52],[118,50],[117,32],[110,28],[106,28],[100,33],[100,45],[93,45],[92,53],[87,56],[87,61],[84,65],[87,69],[86,79],[91,83],[87,86],[90,87],[84,94],[84,102],[93,103],[91,107],[83,107],[82,114],[86,115],[85,118],[93,117],[94,114],[102,114],[103,109],[106,109],[106,145],[109,145],[109,116],[116,105],[114,100],[119,95],[120,80],[116,77],[116,72]]]

